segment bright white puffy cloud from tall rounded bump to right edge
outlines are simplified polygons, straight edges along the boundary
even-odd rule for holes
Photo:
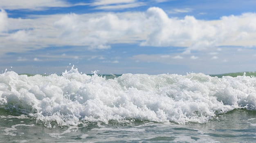
[[[204,50],[219,45],[255,45],[252,41],[256,36],[255,13],[205,21],[193,16],[169,18],[162,9],[151,7],[146,16],[150,24],[148,27],[152,28],[141,45],[185,46],[189,47],[188,50]]]

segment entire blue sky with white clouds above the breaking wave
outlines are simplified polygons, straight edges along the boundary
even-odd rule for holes
[[[0,73],[256,71],[255,0],[0,0]],[[2,71],[2,72],[1,72]]]

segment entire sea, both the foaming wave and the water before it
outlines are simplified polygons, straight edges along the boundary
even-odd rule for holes
[[[0,142],[254,143],[256,78],[4,72]]]

